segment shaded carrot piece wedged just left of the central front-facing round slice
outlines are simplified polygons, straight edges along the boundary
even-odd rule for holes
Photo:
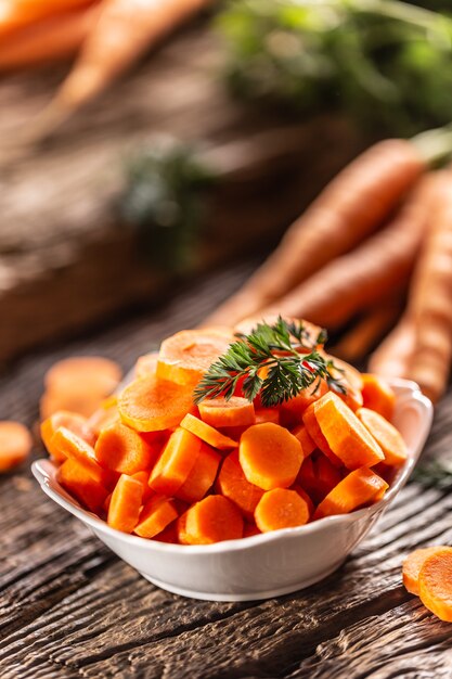
[[[253,518],[263,490],[246,479],[236,451],[224,458],[215,487],[217,492],[232,500],[247,520]]]

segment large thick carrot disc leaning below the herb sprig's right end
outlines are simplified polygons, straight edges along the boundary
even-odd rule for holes
[[[347,469],[372,466],[385,459],[376,440],[337,394],[322,396],[313,409],[328,446]]]

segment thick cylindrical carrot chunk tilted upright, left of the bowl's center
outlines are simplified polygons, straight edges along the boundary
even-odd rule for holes
[[[191,432],[178,428],[171,434],[150,476],[155,492],[175,496],[189,478],[203,441]]]

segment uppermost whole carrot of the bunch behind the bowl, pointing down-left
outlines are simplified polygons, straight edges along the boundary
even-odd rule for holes
[[[424,169],[424,161],[414,144],[409,141],[386,140],[365,151],[324,189],[311,207],[289,228],[280,246],[264,265],[235,296],[210,316],[207,322],[236,323],[247,316],[267,309],[268,305],[281,299],[283,295],[309,277],[312,277],[312,281],[317,280],[317,271],[339,255],[351,251],[375,231]],[[393,233],[390,238],[384,239],[384,243],[382,242],[377,248],[378,252],[384,253],[384,249],[389,246],[389,252],[392,253],[391,261],[398,261],[397,278],[401,274],[401,261],[411,257],[408,252],[404,257],[401,255],[402,249],[408,249],[413,241],[413,236],[408,238],[410,228],[405,228],[404,238],[400,239],[400,242],[404,241],[400,249],[396,248],[396,244],[391,244]],[[398,249],[397,256],[396,249]],[[389,260],[389,252],[385,256],[386,261]],[[363,259],[360,257],[359,260],[354,260],[353,258],[356,261],[353,273]],[[372,260],[365,266],[369,265],[375,276],[378,267],[375,267]],[[336,264],[333,266],[337,269]],[[348,260],[348,266],[350,266],[350,260]],[[350,280],[346,268],[341,266],[339,268],[346,274],[346,280]],[[383,279],[391,278],[388,276],[388,269],[386,264]],[[364,273],[365,268],[362,269],[362,274]],[[343,281],[336,274],[331,276],[328,280],[333,281],[334,290],[344,286]],[[347,284],[346,287],[350,292],[350,285]],[[321,290],[330,291],[331,286],[322,274],[321,290],[319,290],[319,281],[315,285],[309,284],[309,289],[319,302]],[[328,299],[333,294],[333,291],[328,292]],[[365,291],[365,295],[369,294],[371,290]],[[361,292],[356,291],[353,294],[352,306],[357,296],[361,296]],[[344,305],[348,305],[348,302],[340,297],[339,300],[341,309]],[[311,318],[310,313],[299,315],[302,306],[297,303],[296,298],[292,300],[292,304],[288,302],[284,305],[284,315]],[[312,308],[305,294],[304,302]],[[319,310],[318,302],[313,305],[314,312]],[[294,309],[292,313],[290,308]],[[325,317],[322,313],[322,323],[324,320]]]

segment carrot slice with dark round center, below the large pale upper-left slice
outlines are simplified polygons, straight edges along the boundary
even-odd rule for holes
[[[95,458],[103,467],[120,474],[134,474],[150,469],[159,452],[121,422],[103,428],[94,449]]]

